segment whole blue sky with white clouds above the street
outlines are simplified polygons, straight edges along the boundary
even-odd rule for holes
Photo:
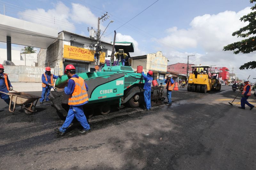
[[[5,4],[5,14],[8,16],[88,36],[87,27],[96,28],[97,17],[108,11],[110,18],[101,23],[101,29],[105,29],[110,20],[114,22],[108,26],[106,36],[155,1],[1,0],[0,12],[3,14]],[[246,9],[250,6],[249,0],[159,0],[119,28],[117,38],[134,42],[136,51],[133,55],[160,50],[170,60],[169,64],[173,64],[186,62],[187,55],[194,54],[195,58],[190,61],[198,58],[194,64],[226,66],[231,70],[232,67],[238,68],[243,63],[255,60],[254,54],[233,55],[232,52],[222,51],[224,45],[239,41],[231,34],[244,26],[239,18],[250,12],[249,8]],[[104,40],[111,41],[113,35]],[[0,43],[0,48],[5,46]],[[13,45],[13,49],[19,48]],[[244,62],[240,62],[240,57],[244,58]],[[248,72],[256,77],[255,70],[234,70],[240,78],[247,77]]]

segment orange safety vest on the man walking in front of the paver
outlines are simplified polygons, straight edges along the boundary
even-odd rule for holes
[[[86,91],[84,79],[81,77],[78,78],[70,78],[75,81],[74,92],[69,95],[68,105],[79,105],[89,100],[88,94]],[[69,81],[69,80],[68,80]]]

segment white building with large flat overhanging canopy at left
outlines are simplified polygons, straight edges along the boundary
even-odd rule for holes
[[[1,14],[0,21],[0,41],[6,42],[6,49],[0,49],[0,63],[8,60],[15,65],[35,66],[37,53],[26,54],[25,60],[25,55],[20,55],[20,51],[11,50],[11,44],[47,48],[58,35],[56,29]]]

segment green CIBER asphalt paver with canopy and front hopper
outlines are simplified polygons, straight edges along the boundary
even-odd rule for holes
[[[87,117],[91,117],[94,111],[98,110],[101,115],[107,115],[112,107],[139,107],[144,104],[143,86],[144,79],[141,73],[134,72],[129,65],[129,52],[133,52],[133,43],[118,42],[117,46],[113,44],[110,66],[105,66],[101,71],[77,73],[82,77],[89,87],[88,97],[89,102],[84,105],[84,112]],[[125,54],[124,54],[125,53]],[[116,56],[117,63],[113,66],[114,57]],[[120,56],[120,57],[119,57]],[[128,61],[128,63],[127,63]],[[68,77],[63,75],[56,80],[55,87],[63,89],[67,86]],[[156,106],[163,104],[163,86],[152,87],[151,90],[151,105]],[[60,90],[52,92],[51,99],[53,106],[56,108],[60,118],[67,116],[69,109],[68,95]]]

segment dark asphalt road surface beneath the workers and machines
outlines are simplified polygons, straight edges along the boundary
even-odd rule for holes
[[[222,86],[207,94],[179,89],[172,106],[122,108],[88,121],[80,135],[50,104],[25,115],[0,111],[1,169],[256,169],[256,108],[238,109],[238,91]],[[256,105],[254,96],[249,98]]]

